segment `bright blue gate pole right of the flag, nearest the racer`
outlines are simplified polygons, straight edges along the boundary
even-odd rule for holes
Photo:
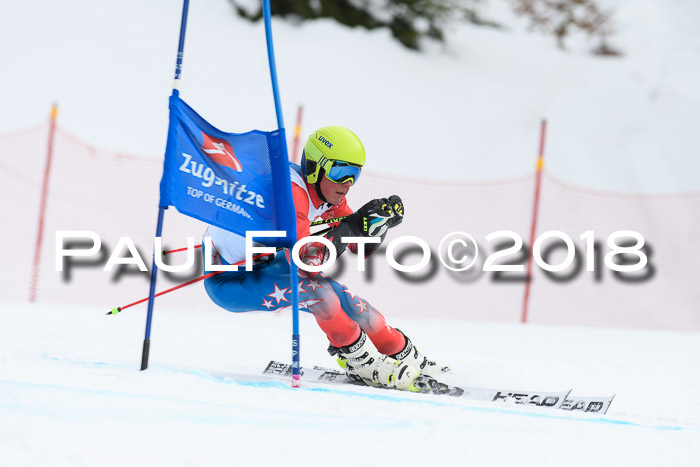
[[[282,105],[277,84],[277,67],[275,66],[275,49],[272,45],[272,21],[270,20],[270,0],[263,0],[263,19],[265,21],[265,38],[267,39],[267,58],[270,63],[270,78],[272,79],[272,94],[275,97],[275,111],[277,113],[277,127],[284,130],[282,118]],[[284,160],[289,160],[286,141],[282,145]],[[299,386],[299,276],[297,266],[290,257],[289,274],[292,287],[292,386]]]

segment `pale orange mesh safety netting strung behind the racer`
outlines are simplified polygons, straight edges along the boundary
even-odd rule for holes
[[[44,123],[0,135],[3,300],[29,297],[48,131],[49,124]],[[119,238],[128,236],[150,268],[161,170],[160,158],[104,151],[57,128],[39,301],[94,304],[96,311],[106,312],[147,295],[148,273],[140,273],[134,266],[116,266],[108,273],[102,266]],[[488,242],[488,234],[509,230],[529,242],[534,183],[534,174],[455,183],[390,177],[366,170],[348,196],[351,206],[357,208],[371,198],[391,194],[400,195],[406,206],[404,223],[390,231],[385,244],[402,235],[418,236],[437,253],[445,235],[464,231],[477,240],[479,257],[467,272],[452,272],[433,256],[424,270],[400,274],[390,268],[383,254],[373,258],[364,273],[355,270],[354,256],[343,255],[329,274],[388,317],[518,322],[524,273],[481,269],[489,255],[512,244],[505,238]],[[166,211],[164,244],[166,248],[182,247],[187,236],[199,242],[204,229],[201,222],[171,208]],[[78,258],[74,266],[57,272],[59,230],[96,232],[103,242],[101,255]],[[533,267],[530,322],[700,329],[700,193],[602,192],[569,185],[545,172],[537,233],[548,230],[563,231],[572,238],[577,249],[575,261],[552,274]],[[614,273],[604,266],[603,257],[609,251],[607,237],[618,230],[635,230],[644,236],[649,265],[641,272]],[[586,271],[586,242],[580,239],[586,231],[595,233],[597,243],[593,272]],[[564,258],[561,245],[545,243],[545,250],[551,264]],[[179,264],[185,255],[174,254],[170,261]],[[201,268],[199,250],[196,258]],[[402,262],[413,264],[419,258],[418,253],[407,253]],[[524,265],[525,258],[526,251],[521,250],[497,263]],[[194,278],[200,270],[161,273],[158,290]],[[201,284],[159,298],[158,306],[216,309]]]

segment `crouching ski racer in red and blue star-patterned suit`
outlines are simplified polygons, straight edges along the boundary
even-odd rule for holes
[[[365,165],[365,149],[347,128],[327,126],[314,131],[306,141],[301,166],[290,163],[292,195],[297,216],[297,238],[309,236],[310,223],[345,217],[325,237],[340,255],[346,248],[357,253],[357,244],[341,237],[373,237],[381,241],[387,230],[401,223],[401,198],[374,199],[357,211],[348,206],[346,195]],[[234,264],[245,258],[244,237],[209,226],[212,264]],[[365,244],[365,255],[380,243]],[[323,243],[307,243],[299,257],[309,265],[320,265],[329,252]],[[350,374],[375,387],[417,391],[412,384],[423,373],[435,377],[447,368],[428,360],[400,330],[389,326],[370,303],[326,276],[299,269],[300,308],[310,311],[325,332],[331,355]],[[289,258],[284,250],[263,257],[253,271],[223,272],[204,281],[209,297],[232,312],[277,311],[288,307]]]

